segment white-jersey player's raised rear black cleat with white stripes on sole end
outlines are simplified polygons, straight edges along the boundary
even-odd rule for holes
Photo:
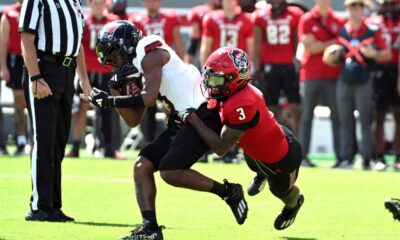
[[[238,224],[243,224],[247,218],[249,208],[246,199],[244,198],[243,188],[240,184],[229,183],[226,179],[224,185],[227,189],[231,189],[231,193],[224,198],[225,202],[232,209]]]

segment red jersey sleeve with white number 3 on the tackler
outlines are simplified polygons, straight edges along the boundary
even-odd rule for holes
[[[224,124],[230,128],[246,130],[253,128],[260,120],[260,112],[253,104],[231,106],[224,112]]]

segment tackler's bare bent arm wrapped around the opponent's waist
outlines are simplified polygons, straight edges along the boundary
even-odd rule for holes
[[[196,115],[192,114],[188,122],[196,129],[197,133],[210,149],[216,154],[222,156],[231,149],[243,136],[244,131],[223,126],[221,135],[219,136]]]

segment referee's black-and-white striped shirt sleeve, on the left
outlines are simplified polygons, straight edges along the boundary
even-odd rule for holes
[[[40,10],[42,3],[40,0],[25,0],[22,3],[19,19],[18,31],[36,33],[39,25]]]

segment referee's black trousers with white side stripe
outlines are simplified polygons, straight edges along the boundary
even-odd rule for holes
[[[31,82],[23,83],[33,131],[30,206],[32,210],[61,209],[61,161],[71,123],[75,64],[65,67],[62,63],[45,60],[38,64],[53,95],[36,99]]]

